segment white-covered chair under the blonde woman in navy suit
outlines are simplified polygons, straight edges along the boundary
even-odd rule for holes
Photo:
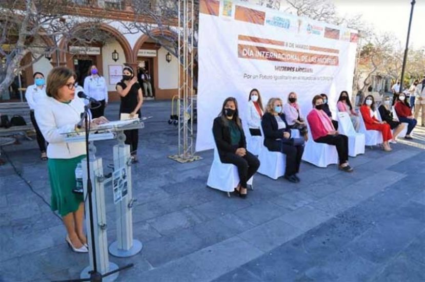
[[[262,126],[260,126],[260,131],[262,142],[260,154],[258,156],[258,160],[260,161],[258,173],[276,180],[285,175],[286,155],[280,152],[269,151],[269,149],[264,145],[265,137],[264,132],[262,131]]]

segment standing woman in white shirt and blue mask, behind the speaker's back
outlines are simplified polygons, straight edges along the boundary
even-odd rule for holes
[[[34,84],[27,87],[27,91],[25,92],[25,99],[30,106],[30,118],[32,125],[35,128],[35,134],[37,138],[38,148],[40,149],[42,156],[41,159],[43,161],[47,161],[46,155],[46,140],[44,140],[43,134],[40,132],[38,128],[37,121],[34,117],[35,107],[39,102],[41,102],[44,98],[46,98],[46,85],[44,82],[44,75],[40,72],[35,72],[33,75]]]

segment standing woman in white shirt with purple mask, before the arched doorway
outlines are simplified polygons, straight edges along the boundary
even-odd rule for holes
[[[96,66],[91,66],[88,76],[84,79],[84,93],[100,102],[100,106],[91,109],[93,118],[105,115],[105,107],[108,105],[108,87],[105,78],[99,75]]]

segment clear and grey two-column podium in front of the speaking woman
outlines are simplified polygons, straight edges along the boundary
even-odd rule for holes
[[[113,183],[113,177],[105,178],[103,172],[102,158],[95,156],[96,147],[94,141],[116,139],[118,144],[113,146],[114,172],[117,170],[125,171],[127,180],[126,194],[115,203],[116,206],[116,232],[117,240],[109,247],[110,254],[118,257],[128,257],[141,251],[143,245],[140,241],[133,239],[132,207],[135,199],[132,198],[131,181],[131,155],[130,145],[126,145],[124,135],[125,130],[144,128],[145,125],[140,119],[115,121],[102,124],[95,129],[90,130],[89,134],[89,155],[90,155],[90,178],[92,182],[92,202],[93,202],[93,226],[95,238],[95,255],[93,257],[90,217],[86,216],[87,239],[89,245],[90,265],[80,274],[81,278],[90,277],[89,271],[93,270],[93,261],[96,259],[97,270],[101,274],[116,270],[118,266],[109,262],[108,240],[107,240],[107,221],[104,187],[109,182]],[[66,142],[85,142],[86,134],[84,132],[66,133]],[[82,161],[84,199],[87,199],[87,158]],[[114,186],[113,186],[114,187]],[[86,214],[89,210],[88,201],[85,203]],[[103,281],[114,281],[118,277],[118,272],[103,278]]]

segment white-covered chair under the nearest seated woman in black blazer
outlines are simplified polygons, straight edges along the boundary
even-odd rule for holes
[[[251,177],[247,184],[252,187]],[[230,197],[230,192],[233,192],[239,184],[239,175],[237,167],[233,164],[222,163],[218,156],[217,145],[214,142],[214,160],[211,164],[210,173],[208,175],[207,186],[227,192]]]

